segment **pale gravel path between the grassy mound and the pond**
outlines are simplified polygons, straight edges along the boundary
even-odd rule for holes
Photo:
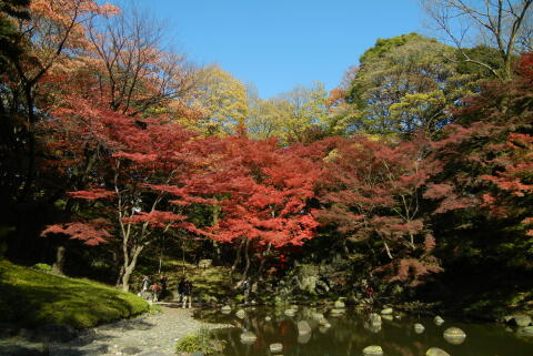
[[[201,327],[229,325],[205,324],[192,318],[192,309],[178,305],[162,306],[162,312],[145,314],[81,332],[67,343],[37,342],[31,335],[0,340],[2,356],[173,356],[177,342]]]

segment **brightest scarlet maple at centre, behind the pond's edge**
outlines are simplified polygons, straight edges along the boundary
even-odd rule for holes
[[[221,207],[211,234],[219,242],[235,242],[233,269],[244,255],[244,279],[253,260],[261,274],[273,250],[302,245],[314,236],[318,223],[308,203],[318,169],[298,149],[281,149],[275,140],[230,136],[217,156],[217,164],[204,173],[204,186]]]

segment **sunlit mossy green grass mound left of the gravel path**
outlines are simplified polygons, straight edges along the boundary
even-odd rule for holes
[[[137,295],[89,279],[53,275],[0,260],[0,315],[22,326],[87,328],[150,309]]]

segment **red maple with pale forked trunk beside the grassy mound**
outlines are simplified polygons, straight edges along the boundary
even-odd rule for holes
[[[128,291],[140,254],[158,234],[169,228],[195,231],[185,222],[183,211],[192,202],[203,202],[187,191],[189,176],[201,164],[191,145],[199,143],[173,122],[135,122],[74,96],[53,114],[57,122],[50,122],[53,139],[49,144],[70,155],[71,160],[62,157],[60,162],[66,170],[83,167],[86,150],[101,155],[91,167],[93,177],[82,189],[68,193],[99,205],[92,218],[78,214],[74,221],[49,226],[43,235],[69,235],[87,244],[118,244],[121,285]]]

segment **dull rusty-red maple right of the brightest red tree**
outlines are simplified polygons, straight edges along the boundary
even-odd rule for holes
[[[439,166],[424,162],[424,145],[423,140],[340,140],[324,157],[319,184],[319,221],[336,227],[345,255],[364,251],[363,242],[366,258],[374,248],[380,253],[371,263],[374,268],[413,285],[440,271],[421,203],[424,184]]]

